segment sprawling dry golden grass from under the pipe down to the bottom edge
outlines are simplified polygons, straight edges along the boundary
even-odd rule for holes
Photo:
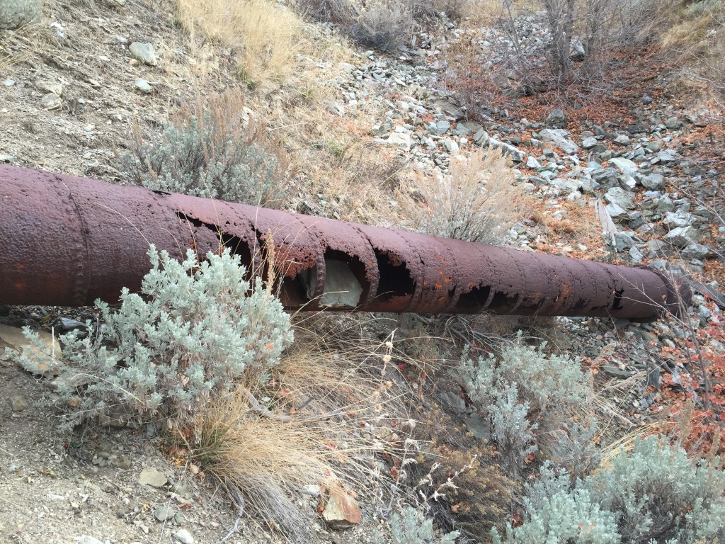
[[[341,479],[370,498],[371,463],[398,448],[380,431],[402,412],[393,382],[381,374],[389,348],[363,332],[363,321],[298,321],[296,342],[279,366],[248,373],[179,436],[191,459],[244,504],[245,516],[306,543],[315,540],[317,505],[301,501],[307,495],[299,490]]]

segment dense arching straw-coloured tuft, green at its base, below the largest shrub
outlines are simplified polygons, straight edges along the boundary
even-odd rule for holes
[[[194,427],[192,458],[225,485],[244,514],[293,542],[312,540],[314,514],[299,506],[297,490],[318,485],[329,469],[302,421],[260,416],[240,389],[209,405]]]

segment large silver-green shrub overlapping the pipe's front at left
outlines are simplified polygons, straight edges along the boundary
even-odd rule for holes
[[[292,342],[281,302],[257,281],[250,285],[239,256],[225,250],[201,263],[191,250],[182,263],[149,250],[151,271],[141,294],[123,289],[120,308],[96,302],[100,326],[61,337],[77,391],[78,413],[117,404],[144,416],[181,415],[228,390],[247,368],[265,371]]]

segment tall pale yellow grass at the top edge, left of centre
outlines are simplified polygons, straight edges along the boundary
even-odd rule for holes
[[[177,0],[189,32],[220,40],[239,53],[239,76],[249,86],[282,78],[302,50],[302,23],[273,0]]]

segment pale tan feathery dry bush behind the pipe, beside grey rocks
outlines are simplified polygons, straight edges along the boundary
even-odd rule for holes
[[[398,200],[410,226],[418,231],[496,244],[527,207],[528,199],[514,181],[508,158],[489,150],[453,158],[442,179],[421,176],[415,182],[417,191],[399,191]]]

